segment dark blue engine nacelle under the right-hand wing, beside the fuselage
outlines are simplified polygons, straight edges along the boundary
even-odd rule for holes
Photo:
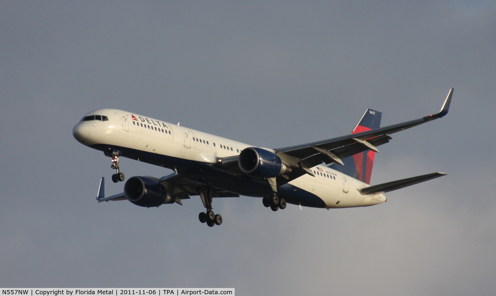
[[[241,151],[238,158],[241,171],[253,178],[274,178],[291,173],[276,154],[257,147],[249,147]]]

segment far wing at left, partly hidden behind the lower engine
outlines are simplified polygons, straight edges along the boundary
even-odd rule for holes
[[[183,205],[181,199],[190,198],[191,195],[199,195],[198,189],[201,188],[200,185],[187,180],[179,176],[177,173],[172,173],[171,175],[162,177],[158,180],[159,183],[164,185],[168,194],[178,197],[176,202]],[[214,190],[213,197],[239,197],[238,194],[234,194],[228,191]],[[105,177],[100,179],[100,186],[98,187],[98,193],[96,200],[98,202],[109,201],[109,200],[125,200],[124,192],[115,194],[109,197],[105,197]]]

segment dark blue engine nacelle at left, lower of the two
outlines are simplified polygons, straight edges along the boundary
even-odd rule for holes
[[[140,207],[158,207],[164,203],[174,203],[176,198],[167,194],[164,185],[152,177],[132,177],[124,185],[127,200]]]

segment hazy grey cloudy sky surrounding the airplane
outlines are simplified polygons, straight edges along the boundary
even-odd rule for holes
[[[234,287],[237,295],[496,290],[494,1],[0,2],[0,287]],[[393,124],[372,184],[445,172],[369,208],[198,197],[97,204],[110,159],[79,144],[118,108],[257,146]],[[127,178],[170,173],[123,159]],[[107,185],[122,192],[123,183]]]

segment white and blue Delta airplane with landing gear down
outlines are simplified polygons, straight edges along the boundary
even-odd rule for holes
[[[209,227],[222,224],[213,212],[214,197],[261,197],[272,211],[287,203],[302,207],[350,208],[386,201],[384,193],[444,176],[431,173],[370,185],[377,146],[392,133],[442,118],[448,113],[453,88],[436,114],[380,127],[382,113],[368,109],[351,134],[316,142],[269,149],[116,109],[86,114],[73,128],[74,138],[103,151],[124,181],[120,158],[171,169],[162,178],[135,176],[124,192],[105,197],[100,179],[97,201],[129,200],[141,207],[159,207],[199,196],[206,211],[198,215]]]

